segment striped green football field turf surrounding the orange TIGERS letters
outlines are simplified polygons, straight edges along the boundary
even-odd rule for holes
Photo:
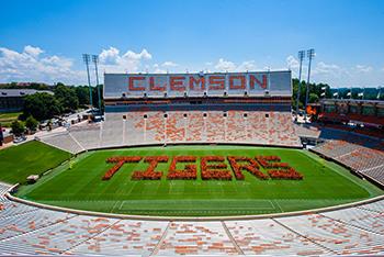
[[[244,171],[244,181],[167,180],[168,164],[157,181],[134,181],[134,170],[147,164],[125,164],[109,181],[102,181],[111,156],[140,155],[278,155],[304,175],[302,181],[259,180]],[[197,167],[200,161],[197,160]],[[228,163],[227,163],[228,164]],[[60,167],[36,185],[21,187],[16,195],[47,204],[75,209],[142,215],[242,215],[307,210],[368,199],[382,193],[375,186],[345,168],[298,150],[240,146],[172,146],[98,150]],[[228,164],[229,168],[229,164]],[[230,168],[229,168],[230,169]],[[261,169],[263,172],[266,170]]]

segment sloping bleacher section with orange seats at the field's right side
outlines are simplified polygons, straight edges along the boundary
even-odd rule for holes
[[[327,141],[313,148],[347,167],[384,185],[384,152],[346,141]]]

